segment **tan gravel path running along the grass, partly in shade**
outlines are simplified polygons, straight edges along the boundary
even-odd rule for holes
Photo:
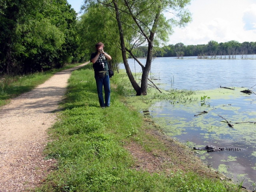
[[[34,188],[55,168],[43,155],[47,129],[56,121],[71,72],[85,64],[56,73],[0,108],[0,192]]]

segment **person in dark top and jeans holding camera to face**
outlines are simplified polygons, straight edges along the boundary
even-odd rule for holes
[[[108,60],[111,56],[104,52],[104,44],[99,42],[95,45],[96,52],[91,54],[90,61],[93,63],[94,77],[96,80],[99,105],[102,108],[110,106],[110,81],[108,76]],[[103,99],[102,87],[105,92],[105,102]]]

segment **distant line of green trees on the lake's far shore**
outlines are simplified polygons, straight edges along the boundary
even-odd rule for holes
[[[145,57],[147,47],[138,47],[136,56]],[[215,58],[216,56],[225,58],[235,58],[235,55],[242,55],[241,58],[246,58],[247,55],[256,54],[256,42],[229,41],[226,43],[218,43],[217,41],[209,41],[206,45],[184,45],[183,43],[171,44],[164,47],[154,47],[154,57],[183,57],[183,56],[198,56],[204,58],[208,56]]]

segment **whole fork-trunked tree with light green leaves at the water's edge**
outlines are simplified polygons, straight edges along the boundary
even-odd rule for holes
[[[96,2],[112,9],[119,29],[120,49],[126,73],[136,95],[146,95],[153,47],[161,41],[166,42],[168,40],[168,35],[172,33],[174,25],[184,26],[191,20],[190,13],[185,9],[190,0],[85,0],[85,3]],[[164,15],[167,12],[172,14],[170,19],[166,19]],[[144,44],[148,47],[145,65],[139,61],[133,52],[134,48]],[[140,85],[131,73],[127,53],[142,68]]]

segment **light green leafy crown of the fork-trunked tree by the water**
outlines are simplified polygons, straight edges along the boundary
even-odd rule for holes
[[[167,42],[174,26],[185,26],[190,22],[191,15],[184,9],[189,2],[189,0],[132,0],[128,3],[117,1],[120,9],[118,19],[123,23],[122,34],[127,41],[125,44],[127,49],[132,50],[144,44],[149,46],[154,44],[155,47]],[[169,19],[164,15],[166,10],[173,15]]]

